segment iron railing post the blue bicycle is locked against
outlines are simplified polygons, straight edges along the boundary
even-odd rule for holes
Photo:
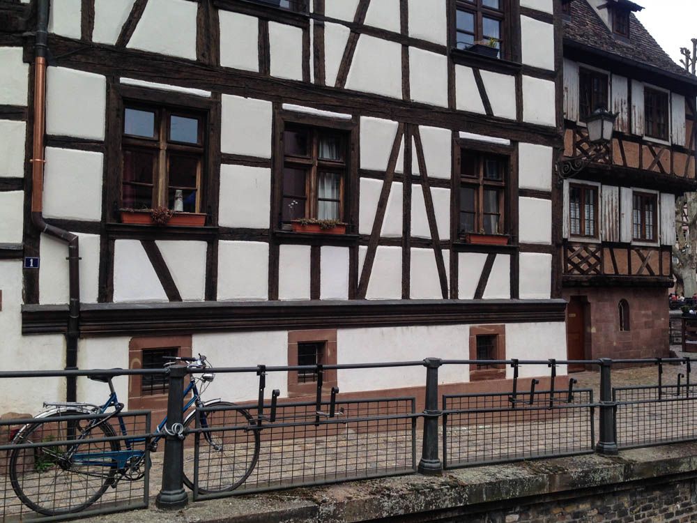
[[[167,397],[167,434],[162,464],[162,490],[155,498],[158,508],[174,510],[186,506],[189,498],[184,490],[184,438],[183,438],[183,392],[186,365],[169,367],[169,395]]]

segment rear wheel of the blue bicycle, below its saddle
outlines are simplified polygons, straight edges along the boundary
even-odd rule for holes
[[[56,418],[81,415],[84,416],[84,412],[63,411],[45,418],[40,423],[27,425],[17,434],[15,443],[21,445],[41,441],[66,441],[70,439],[68,424],[71,422]],[[84,428],[80,425],[86,425],[89,420],[77,420],[74,423],[82,433]],[[89,441],[91,437],[101,439],[116,436],[108,423],[92,427],[81,436],[75,453],[116,451],[120,448],[118,441]],[[72,450],[74,446],[71,445],[69,448]],[[110,467],[79,464],[66,457],[67,450],[68,446],[48,445],[13,448],[10,451],[10,483],[17,497],[34,512],[47,516],[81,512],[100,499],[114,483],[116,462]]]

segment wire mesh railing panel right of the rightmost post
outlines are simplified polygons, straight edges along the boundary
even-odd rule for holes
[[[620,448],[697,439],[697,385],[613,388]]]

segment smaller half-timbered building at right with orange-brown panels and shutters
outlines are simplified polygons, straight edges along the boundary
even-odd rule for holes
[[[638,10],[628,0],[563,9],[564,153],[592,159],[562,187],[573,358],[668,355],[675,195],[695,190],[697,80],[661,49]],[[617,114],[604,154],[594,154],[585,124],[598,107]]]

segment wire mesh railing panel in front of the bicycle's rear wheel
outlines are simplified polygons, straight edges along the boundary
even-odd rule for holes
[[[5,522],[87,517],[148,506],[150,414],[66,410],[0,422],[0,515]],[[126,434],[126,435],[124,435]]]

